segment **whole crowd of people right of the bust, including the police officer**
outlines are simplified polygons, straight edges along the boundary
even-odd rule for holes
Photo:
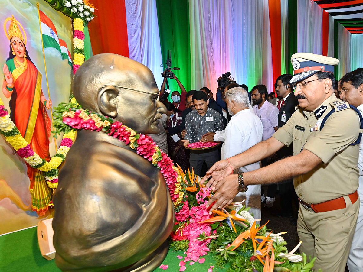
[[[272,207],[279,194],[281,210],[272,214],[297,225],[301,250],[317,257],[315,268],[344,271],[347,263],[350,272],[362,272],[363,68],[335,81],[338,62],[297,53],[294,75],[280,75],[274,92],[261,84],[248,91],[231,79],[216,100],[208,86],[186,92],[174,76],[180,91],[168,90],[162,135],[152,137],[213,187],[211,210],[245,200],[260,219],[261,205]],[[160,97],[164,89],[165,78]],[[187,149],[210,141],[223,144]]]

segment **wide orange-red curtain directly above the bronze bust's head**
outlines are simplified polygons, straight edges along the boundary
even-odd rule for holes
[[[93,54],[114,53],[129,57],[125,0],[92,0],[92,4],[97,8],[88,25]]]

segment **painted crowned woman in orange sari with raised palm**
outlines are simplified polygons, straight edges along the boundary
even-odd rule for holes
[[[6,32],[8,21],[10,26]],[[4,30],[10,41],[10,53],[3,67],[3,93],[6,98],[10,98],[11,120],[33,151],[49,161],[50,119],[45,108],[52,106],[52,100],[47,100],[41,90],[42,75],[25,48],[26,34],[23,27],[12,16],[5,20]],[[32,210],[42,216],[51,201],[50,190],[42,172],[28,165],[27,174],[30,179]]]

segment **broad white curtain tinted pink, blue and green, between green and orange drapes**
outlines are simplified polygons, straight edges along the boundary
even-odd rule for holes
[[[230,71],[239,84],[273,91],[268,1],[189,0],[192,88],[217,89]]]

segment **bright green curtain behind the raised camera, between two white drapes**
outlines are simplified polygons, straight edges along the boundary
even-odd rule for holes
[[[180,71],[174,71],[174,73],[189,91],[191,90],[191,63],[188,0],[156,0],[156,10],[163,63],[166,63],[167,50],[171,50],[172,67],[180,68]],[[176,90],[180,92],[174,79],[168,79],[168,83],[171,92]]]

